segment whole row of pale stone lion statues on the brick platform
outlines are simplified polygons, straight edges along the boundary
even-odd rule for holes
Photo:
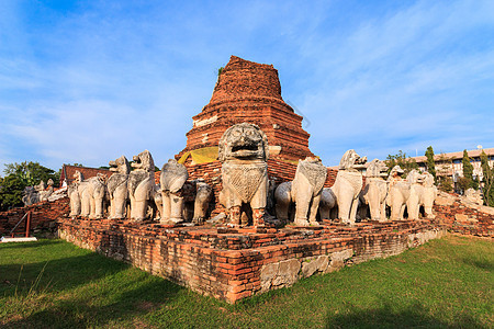
[[[412,170],[406,178],[398,167],[389,168],[378,159],[367,162],[355,150],[345,152],[335,183],[324,188],[327,168],[318,158],[299,160],[293,181],[274,184],[268,178],[268,138],[255,124],[231,126],[218,143],[222,162],[222,190],[217,195],[232,226],[263,226],[266,220],[293,220],[296,226],[318,225],[339,218],[355,224],[357,219],[417,219],[420,207],[433,217],[437,195],[434,177]],[[80,172],[69,185],[70,216],[102,218],[109,204],[109,218],[141,222],[159,218],[160,223],[183,220],[202,224],[209,216],[213,189],[203,180],[189,180],[186,166],[170,159],[155,183],[155,164],[149,151],[110,161],[114,173],[85,180]],[[133,168],[133,170],[131,170]],[[367,215],[367,212],[370,214]]]

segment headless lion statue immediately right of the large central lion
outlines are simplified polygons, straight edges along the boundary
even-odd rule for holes
[[[288,220],[290,203],[295,203],[294,224],[299,226],[317,225],[316,216],[321,194],[326,181],[327,169],[318,158],[299,160],[295,178],[291,184],[282,183],[274,195],[278,219]],[[307,220],[308,219],[308,220]]]

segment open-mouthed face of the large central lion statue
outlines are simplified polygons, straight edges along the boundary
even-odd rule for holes
[[[229,159],[268,160],[268,137],[255,124],[242,123],[226,129],[220,139],[220,161]]]

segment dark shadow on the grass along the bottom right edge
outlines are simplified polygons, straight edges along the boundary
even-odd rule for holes
[[[487,328],[471,316],[459,315],[453,324],[433,317],[422,305],[402,311],[390,305],[379,309],[352,308],[348,314],[328,314],[326,328]]]

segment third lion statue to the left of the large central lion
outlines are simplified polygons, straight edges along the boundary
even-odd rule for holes
[[[126,206],[128,200],[128,173],[131,164],[124,156],[110,161],[110,170],[114,173],[108,180],[108,192],[110,195],[110,216],[109,218],[121,219],[126,216]]]

